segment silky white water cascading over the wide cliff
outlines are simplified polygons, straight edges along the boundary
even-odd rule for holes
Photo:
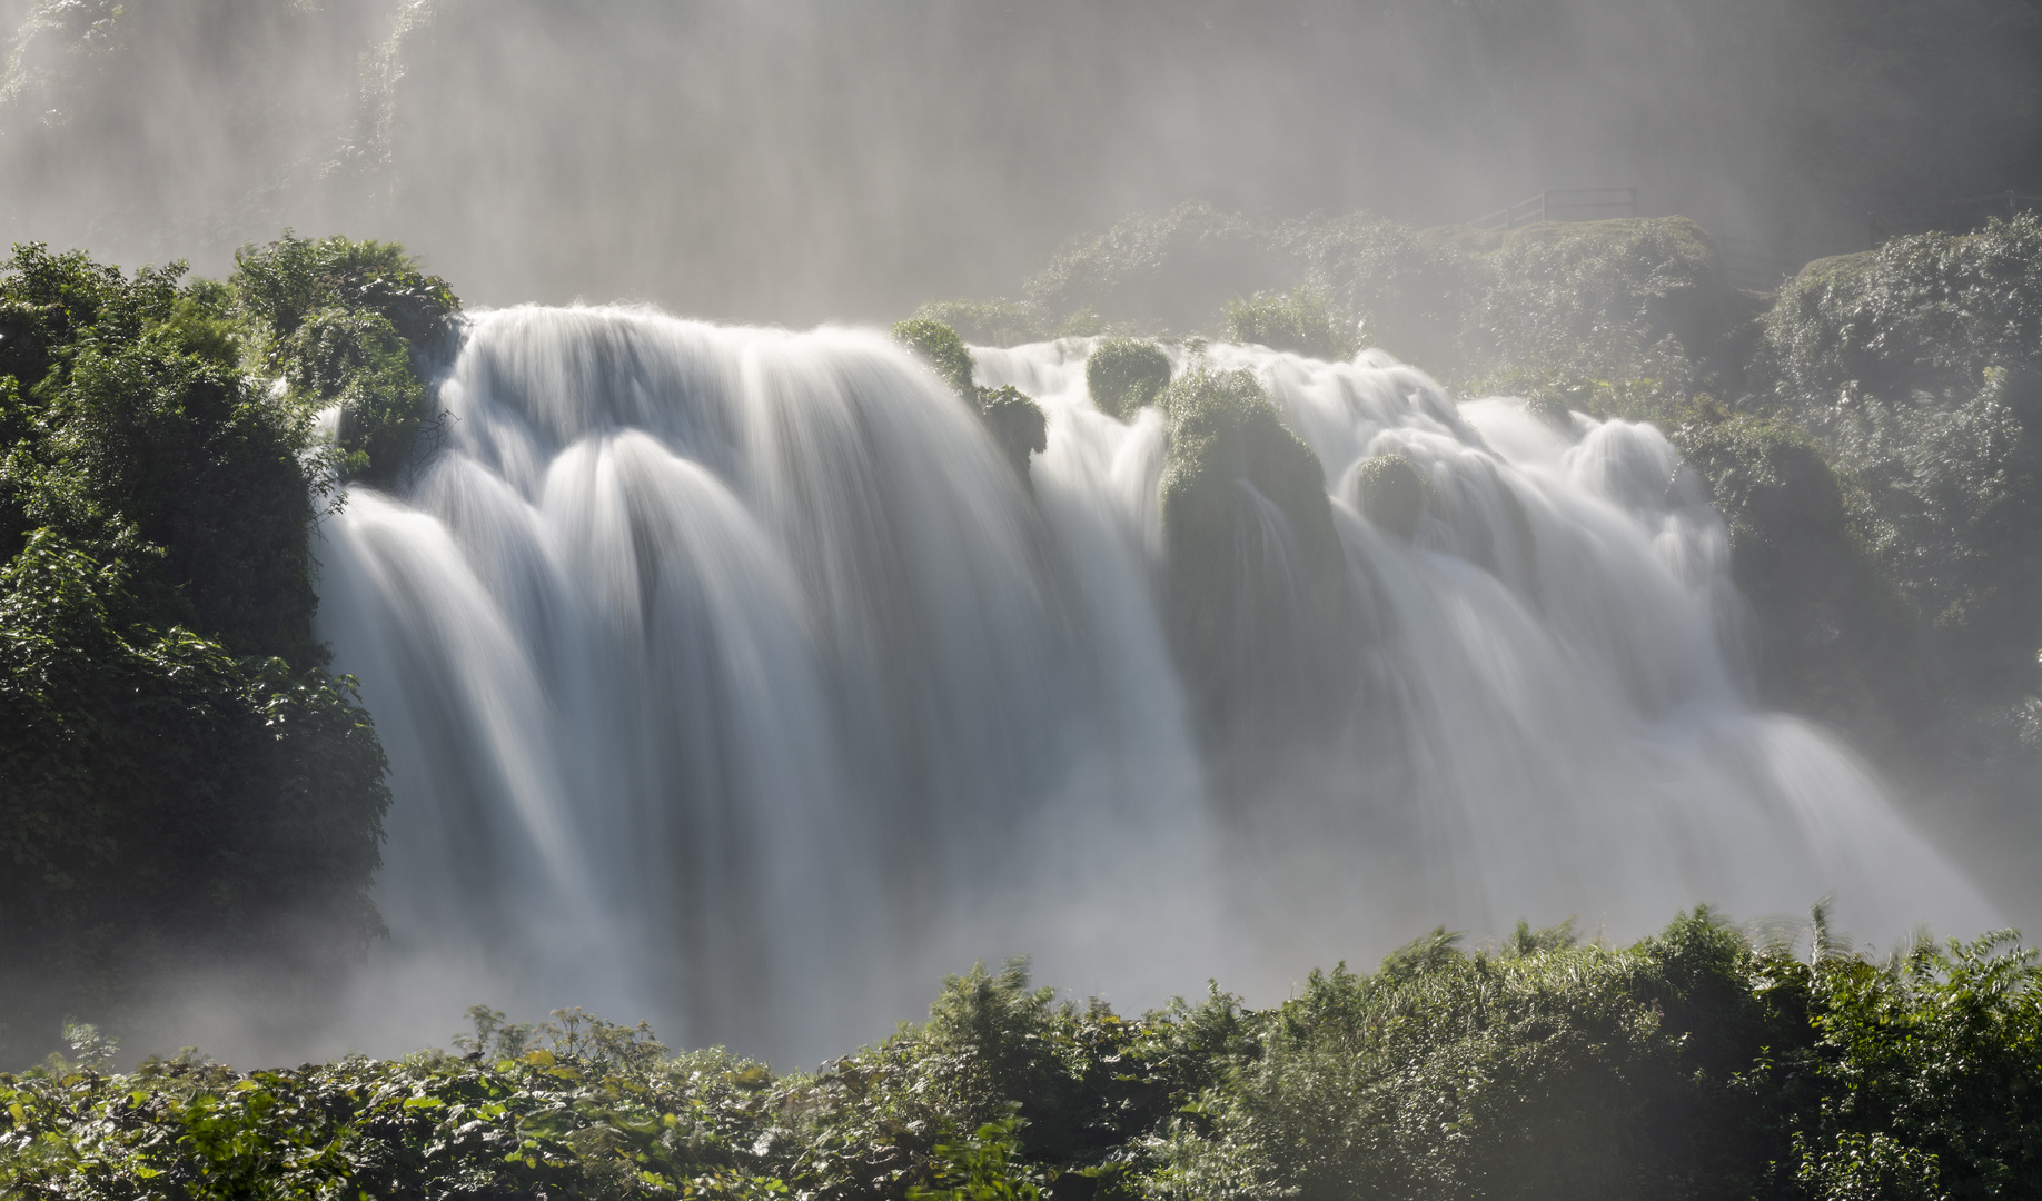
[[[1029,486],[880,333],[474,319],[445,445],[323,549],[394,764],[384,970],[798,1060],[1011,952],[1150,1003],[1442,921],[1838,891],[1862,933],[1987,923],[1864,768],[1752,709],[1721,521],[1656,431],[1376,351],[1209,351],[1317,451],[1374,631],[1311,801],[1221,813],[1162,619],[1164,423],[1101,415],[1088,347],[978,351],[1050,417]],[[1438,488],[1413,545],[1354,498],[1389,449]]]

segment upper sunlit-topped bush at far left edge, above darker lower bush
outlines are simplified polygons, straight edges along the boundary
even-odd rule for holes
[[[221,294],[182,270],[41,245],[0,268],[0,556],[55,529],[131,562],[165,625],[306,662],[306,427],[221,362]]]

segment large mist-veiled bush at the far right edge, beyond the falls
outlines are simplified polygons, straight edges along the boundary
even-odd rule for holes
[[[1811,263],[1766,317],[1783,415],[1862,492],[1881,572],[1987,696],[2042,639],[2042,219]]]

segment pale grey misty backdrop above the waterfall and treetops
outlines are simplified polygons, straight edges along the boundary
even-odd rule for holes
[[[470,304],[1017,294],[1135,208],[1468,221],[1636,186],[1783,259],[2038,190],[1985,0],[0,0],[8,239],[400,239]]]

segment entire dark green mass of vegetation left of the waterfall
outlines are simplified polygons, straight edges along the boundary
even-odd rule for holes
[[[310,537],[337,480],[412,453],[453,308],[347,239],[247,247],[227,282],[0,266],[8,1058],[212,962],[317,991],[382,929],[384,754],[312,641]]]

